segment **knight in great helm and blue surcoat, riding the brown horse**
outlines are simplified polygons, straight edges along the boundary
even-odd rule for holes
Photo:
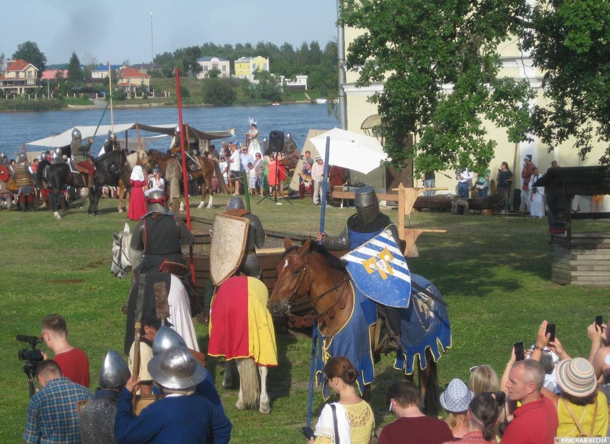
[[[356,214],[351,215],[345,229],[339,236],[328,236],[318,232],[317,241],[324,240],[324,246],[331,251],[351,251],[368,242],[382,231],[389,229],[394,242],[403,250],[403,241],[398,235],[398,228],[384,213],[379,210],[379,200],[375,188],[366,186],[356,188]],[[392,345],[400,344],[400,312],[393,307],[381,306],[378,310],[386,318],[390,329]]]

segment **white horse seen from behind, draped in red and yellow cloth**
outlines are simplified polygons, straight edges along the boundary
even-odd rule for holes
[[[218,288],[210,310],[210,356],[224,356],[223,387],[232,387],[233,368],[239,371],[235,407],[271,412],[267,370],[278,365],[267,287],[253,277],[229,277]],[[260,378],[260,381],[259,381]]]

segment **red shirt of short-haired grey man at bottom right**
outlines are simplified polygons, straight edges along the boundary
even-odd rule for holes
[[[557,409],[553,401],[540,396],[539,401],[523,404],[515,410],[501,444],[553,444],[559,426]]]

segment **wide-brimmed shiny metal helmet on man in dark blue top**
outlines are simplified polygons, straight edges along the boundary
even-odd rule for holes
[[[148,373],[157,384],[181,390],[206,379],[207,370],[187,348],[171,347],[148,362]]]

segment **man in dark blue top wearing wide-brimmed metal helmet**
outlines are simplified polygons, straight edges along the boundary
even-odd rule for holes
[[[139,416],[132,412],[131,378],[119,394],[115,435],[117,442],[176,442],[226,444],[231,439],[231,421],[195,388],[207,370],[184,347],[171,347],[157,354],[148,371],[165,398],[146,407]]]

